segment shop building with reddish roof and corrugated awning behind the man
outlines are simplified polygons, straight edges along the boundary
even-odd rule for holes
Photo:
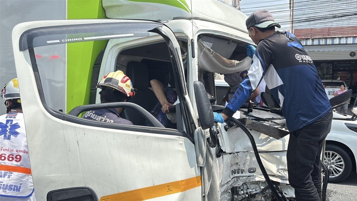
[[[357,88],[357,26],[295,29],[321,79]],[[353,93],[356,93],[356,89]]]

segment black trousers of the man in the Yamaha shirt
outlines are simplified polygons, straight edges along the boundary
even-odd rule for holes
[[[289,183],[297,201],[321,200],[322,142],[331,130],[332,111],[290,133],[287,150]]]

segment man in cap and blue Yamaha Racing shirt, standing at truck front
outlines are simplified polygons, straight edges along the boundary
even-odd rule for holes
[[[275,31],[280,25],[269,11],[255,11],[246,26],[257,44],[252,65],[226,108],[214,113],[215,121],[232,117],[264,78],[290,131],[287,166],[296,200],[320,201],[320,155],[331,129],[332,107],[316,67],[294,35]]]

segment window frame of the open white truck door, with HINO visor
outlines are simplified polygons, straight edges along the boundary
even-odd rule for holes
[[[19,48],[20,48],[21,52],[25,52],[26,50],[28,50],[28,53],[30,56],[31,67],[34,71],[36,86],[37,86],[37,90],[38,90],[38,93],[40,96],[42,106],[52,116],[62,119],[64,121],[82,124],[82,125],[86,125],[86,126],[93,126],[93,127],[102,127],[102,128],[111,128],[111,129],[120,129],[120,130],[125,130],[125,131],[135,131],[135,132],[146,132],[146,133],[181,136],[181,137],[188,138],[194,144],[194,141],[189,134],[187,134],[185,132],[177,131],[176,129],[155,128],[155,127],[145,127],[145,126],[132,126],[132,125],[122,125],[122,124],[113,124],[113,123],[92,121],[92,120],[82,119],[79,117],[70,116],[69,114],[62,113],[59,111],[55,111],[54,109],[51,109],[46,104],[44,92],[42,89],[39,69],[37,67],[37,62],[36,62],[36,56],[35,56],[35,51],[34,51],[35,47],[52,45],[51,43],[48,43],[48,41],[58,41],[58,43],[56,43],[56,44],[78,42],[78,41],[71,42],[71,41],[65,41],[65,40],[58,40],[58,39],[62,39],[62,38],[63,39],[67,38],[67,34],[77,34],[77,35],[91,34],[90,35],[91,38],[97,38],[97,39],[88,39],[88,40],[84,40],[84,41],[107,40],[107,39],[113,39],[113,38],[120,38],[121,36],[106,38],[106,36],[112,36],[112,35],[103,36],[103,34],[98,34],[98,33],[100,33],[100,31],[98,31],[98,32],[87,31],[86,32],[86,30],[101,30],[101,32],[103,32],[103,29],[105,27],[107,29],[112,29],[112,27],[115,27],[115,26],[122,26],[120,29],[117,28],[116,30],[121,30],[121,31],[123,31],[123,33],[125,33],[125,31],[126,31],[126,33],[128,33],[128,32],[130,33],[129,30],[132,30],[133,26],[135,26],[135,25],[137,26],[138,29],[136,29],[136,32],[134,32],[135,35],[130,35],[129,37],[149,36],[149,32],[153,32],[153,33],[157,33],[157,34],[161,35],[165,39],[165,41],[168,45],[168,48],[170,50],[171,61],[172,61],[173,67],[176,68],[175,69],[176,73],[174,73],[176,86],[180,86],[177,88],[178,94],[180,94],[180,95],[178,95],[178,98],[180,99],[181,107],[184,106],[183,95],[186,94],[187,92],[186,92],[186,88],[184,87],[185,86],[184,82],[182,82],[182,80],[183,80],[182,76],[184,76],[183,72],[181,72],[181,70],[180,70],[180,69],[182,69],[182,62],[180,63],[180,61],[178,59],[180,57],[178,56],[177,48],[171,41],[172,35],[174,35],[174,34],[166,25],[156,22],[156,21],[150,21],[150,20],[146,20],[146,21],[130,20],[130,22],[119,22],[119,23],[118,22],[115,22],[115,23],[110,22],[110,23],[55,25],[55,26],[37,27],[37,28],[33,28],[33,29],[24,31],[24,33],[22,33],[20,36]],[[110,26],[111,26],[111,28],[109,28]],[[108,31],[108,32],[110,33],[110,31]],[[98,35],[98,36],[93,36],[93,35]],[[84,37],[84,36],[81,36],[81,37]],[[124,36],[124,37],[127,37],[127,36]],[[181,79],[178,79],[177,73],[180,74]],[[181,112],[184,112],[182,114],[182,116],[184,116],[184,115],[186,116],[185,111],[186,111],[185,109],[183,109],[181,111]],[[187,118],[187,116],[186,116],[186,118]],[[183,118],[185,122],[187,122],[186,118]],[[187,125],[186,125],[186,127],[187,127]]]

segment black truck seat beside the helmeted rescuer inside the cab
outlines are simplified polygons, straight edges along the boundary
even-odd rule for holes
[[[129,62],[126,75],[137,90],[136,94],[128,102],[135,103],[150,112],[158,100],[154,92],[148,88],[149,71],[147,65],[141,62]],[[122,117],[131,121],[136,126],[145,126],[146,119],[133,109],[124,109]]]

